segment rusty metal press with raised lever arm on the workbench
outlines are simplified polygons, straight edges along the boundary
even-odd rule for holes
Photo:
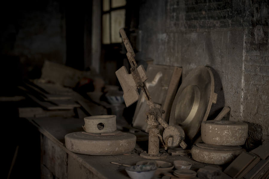
[[[131,64],[131,74],[126,70],[126,67],[121,67],[116,71],[117,78],[123,89],[123,98],[126,107],[136,102],[139,98],[137,90],[140,88],[144,94],[144,97],[149,106],[149,110],[146,112],[146,122],[149,124],[149,147],[148,153],[143,152],[140,154],[144,158],[166,158],[166,155],[159,153],[159,138],[165,149],[167,147],[175,147],[180,145],[183,149],[187,147],[187,144],[183,141],[185,138],[184,130],[180,126],[168,125],[162,118],[164,110],[155,107],[149,91],[145,85],[147,80],[146,71],[142,65],[137,67],[135,62],[135,53],[127,38],[123,29],[120,29],[120,34],[123,39],[123,43],[127,50],[127,58]],[[161,125],[164,128],[163,136],[160,134],[158,126]]]

